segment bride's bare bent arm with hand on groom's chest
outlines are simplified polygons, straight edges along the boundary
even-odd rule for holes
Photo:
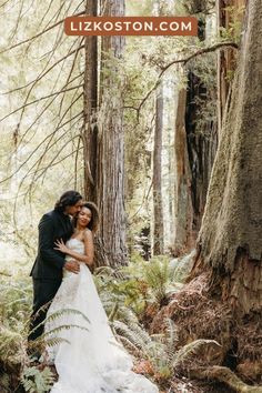
[[[63,243],[62,240],[58,241],[56,243],[56,245],[57,245],[56,250],[59,250],[59,251],[63,252],[64,254],[72,256],[77,261],[84,262],[87,265],[92,266],[94,250],[93,250],[93,235],[90,230],[84,231],[83,240],[84,240],[83,241],[84,242],[84,254],[79,254],[78,252],[70,250]]]

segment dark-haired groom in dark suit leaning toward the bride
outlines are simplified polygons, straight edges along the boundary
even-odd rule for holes
[[[78,261],[64,261],[66,255],[54,250],[54,242],[62,239],[66,243],[73,233],[70,215],[80,212],[82,196],[77,191],[64,192],[54,205],[54,210],[43,214],[39,222],[38,255],[30,275],[33,280],[33,312],[31,315],[30,332],[43,322],[48,306],[54,298],[61,281],[62,269],[79,272]],[[49,303],[43,308],[44,304]],[[29,333],[32,341],[43,333],[43,324]]]

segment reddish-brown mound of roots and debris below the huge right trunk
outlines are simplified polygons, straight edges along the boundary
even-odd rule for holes
[[[180,377],[190,377],[183,389],[181,380],[174,379],[173,391],[165,393],[262,392],[261,318],[238,319],[226,302],[210,295],[206,283],[202,274],[185,284],[150,323],[151,334],[163,333],[163,321],[171,319],[178,329],[178,347],[206,341],[177,367]]]

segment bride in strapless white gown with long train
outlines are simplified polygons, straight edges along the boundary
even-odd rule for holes
[[[158,393],[148,379],[132,372],[131,355],[113,336],[92,280],[97,206],[83,203],[74,224],[72,238],[67,244],[57,242],[57,250],[79,261],[80,272],[64,270],[44,326],[57,339],[57,345],[46,350],[46,361],[59,375],[50,393]]]

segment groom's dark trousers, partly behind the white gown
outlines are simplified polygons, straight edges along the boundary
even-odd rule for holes
[[[29,341],[38,339],[43,333],[44,324],[42,322],[60,285],[61,280],[33,279],[33,311],[28,336]]]

